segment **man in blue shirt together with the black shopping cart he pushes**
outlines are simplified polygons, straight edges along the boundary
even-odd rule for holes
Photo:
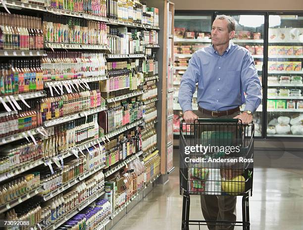
[[[180,124],[183,230],[189,229],[189,225],[207,225],[209,230],[233,230],[241,225],[249,230],[252,121],[262,97],[251,53],[230,41],[235,30],[232,17],[218,15],[212,24],[212,45],[193,54],[181,80],[178,100],[185,121]],[[199,107],[195,114],[192,98],[196,83]],[[240,106],[244,103],[241,113]],[[201,195],[205,222],[189,219],[193,194]],[[243,196],[242,222],[236,221],[239,195]]]

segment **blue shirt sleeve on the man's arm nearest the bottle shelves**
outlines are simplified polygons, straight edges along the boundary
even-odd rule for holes
[[[179,89],[178,101],[183,112],[187,110],[193,110],[192,100],[196,91],[196,83],[198,83],[200,77],[200,62],[197,53],[194,53],[189,60],[187,70],[182,76],[181,86]]]

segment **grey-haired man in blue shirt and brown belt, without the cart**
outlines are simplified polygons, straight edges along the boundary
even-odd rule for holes
[[[235,20],[218,15],[211,28],[212,46],[195,52],[182,77],[179,103],[186,123],[199,118],[241,119],[253,121],[253,112],[261,103],[261,86],[251,53],[233,44]],[[198,116],[192,109],[192,98],[198,83]],[[247,94],[245,98],[244,92]],[[239,106],[246,103],[241,114]],[[238,176],[238,170],[221,170],[225,179]],[[206,221],[236,221],[236,196],[202,195],[201,208]],[[209,230],[233,230],[233,226],[213,226]]]

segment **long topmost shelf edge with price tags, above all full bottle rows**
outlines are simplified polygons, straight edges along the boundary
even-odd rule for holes
[[[155,27],[155,26],[151,26],[151,25],[124,22],[124,21],[109,19],[106,17],[100,17],[100,16],[90,15],[90,14],[86,14],[86,13],[79,13],[79,12],[74,12],[74,11],[69,11],[69,10],[63,10],[63,9],[56,9],[56,8],[48,7],[45,5],[30,4],[30,3],[25,3],[25,2],[21,2],[21,1],[5,0],[5,5],[7,8],[29,9],[29,10],[34,10],[34,11],[48,12],[48,13],[52,13],[52,14],[56,14],[56,15],[66,15],[66,16],[71,16],[71,17],[91,19],[91,20],[95,20],[95,21],[106,22],[109,25],[123,25],[126,27],[160,30],[159,27]],[[2,7],[2,5],[1,5],[1,7]]]

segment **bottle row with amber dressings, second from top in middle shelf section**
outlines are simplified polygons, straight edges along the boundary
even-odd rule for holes
[[[44,41],[49,43],[107,45],[106,23],[45,14]]]

